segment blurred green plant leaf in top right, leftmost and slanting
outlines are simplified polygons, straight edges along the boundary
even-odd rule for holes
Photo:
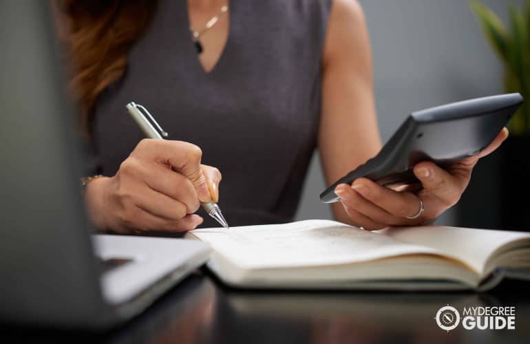
[[[471,11],[474,12],[475,17],[478,19],[480,27],[491,47],[493,47],[502,61],[508,62],[509,36],[505,25],[494,12],[479,1],[471,1],[469,8],[471,8]]]

